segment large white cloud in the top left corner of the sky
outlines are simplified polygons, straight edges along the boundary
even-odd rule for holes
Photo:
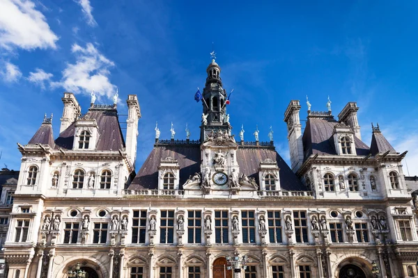
[[[0,47],[13,50],[56,48],[58,37],[51,31],[45,16],[29,0],[0,1]]]

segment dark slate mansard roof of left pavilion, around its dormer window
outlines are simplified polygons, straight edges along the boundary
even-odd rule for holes
[[[98,124],[99,138],[96,144],[98,151],[117,151],[125,147],[121,125],[118,120],[118,111],[113,106],[95,105],[88,109],[82,117],[96,120]],[[65,131],[61,132],[55,140],[55,149],[72,149],[75,136],[75,124],[73,122]]]

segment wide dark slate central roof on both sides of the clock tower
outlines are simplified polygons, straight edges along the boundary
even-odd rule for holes
[[[254,144],[255,145],[255,144]],[[160,162],[170,156],[178,161],[180,166],[180,189],[190,175],[201,172],[201,148],[200,144],[155,144],[153,151],[139,170],[128,190],[157,189],[158,187],[158,166]],[[236,154],[240,172],[247,177],[254,177],[258,181],[258,167],[261,161],[270,158],[277,161],[280,168],[280,186],[283,190],[307,190],[291,168],[276,152],[274,147],[239,146]]]

